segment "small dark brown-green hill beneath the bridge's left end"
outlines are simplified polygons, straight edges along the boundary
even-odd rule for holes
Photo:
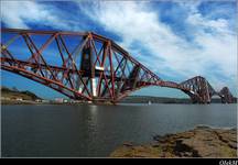
[[[25,91],[19,91],[17,88],[10,89],[7,87],[1,87],[1,97],[10,98],[10,99],[17,99],[21,98],[23,100],[36,100],[41,99],[35,94],[25,90]]]

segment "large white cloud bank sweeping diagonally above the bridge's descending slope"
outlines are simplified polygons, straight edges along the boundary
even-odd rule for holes
[[[228,28],[227,20],[205,19],[197,11],[198,3],[180,4],[190,11],[190,16],[185,21],[194,28],[195,44],[175,35],[167,24],[160,21],[158,12],[147,8],[147,2],[102,1],[90,9],[79,3],[79,8],[106,31],[120,35],[122,42],[119,44],[158,75],[163,73],[177,77],[181,74],[181,80],[203,75],[216,86],[224,84],[220,77],[213,75],[219,69],[217,73],[227,77],[227,82],[230,82],[230,77],[236,77],[237,41],[235,33]],[[142,47],[133,50],[131,45],[137,42]],[[142,54],[141,48],[147,48],[150,55]]]

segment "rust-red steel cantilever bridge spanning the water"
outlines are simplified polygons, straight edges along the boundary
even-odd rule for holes
[[[161,79],[113,41],[93,32],[1,29],[1,69],[45,85],[72,99],[118,102],[134,90],[180,89],[193,102],[217,95],[231,103],[227,87],[216,91],[202,76],[182,82]]]

